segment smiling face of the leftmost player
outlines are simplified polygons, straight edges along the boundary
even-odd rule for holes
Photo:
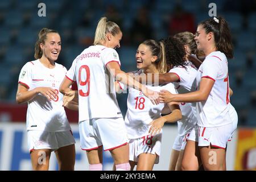
[[[47,34],[47,39],[44,44],[41,44],[40,46],[43,49],[45,57],[49,60],[56,61],[61,50],[60,35],[57,33]]]

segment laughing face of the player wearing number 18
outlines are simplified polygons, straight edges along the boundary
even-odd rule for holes
[[[156,56],[152,56],[150,47],[145,44],[140,44],[136,52],[137,68],[148,68],[154,61]]]

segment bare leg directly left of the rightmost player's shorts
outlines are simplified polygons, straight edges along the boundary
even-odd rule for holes
[[[201,165],[198,142],[187,140],[181,162],[182,171],[198,171]]]

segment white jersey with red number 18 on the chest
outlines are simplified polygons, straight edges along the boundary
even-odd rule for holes
[[[135,74],[140,74],[140,69]],[[160,92],[160,90],[168,90],[176,94],[174,84],[159,86],[147,86],[148,89]],[[125,125],[129,139],[141,138],[148,135],[150,129],[150,122],[161,117],[164,104],[153,105],[152,102],[145,97],[142,92],[129,87],[129,94],[127,97],[127,113],[125,116]]]

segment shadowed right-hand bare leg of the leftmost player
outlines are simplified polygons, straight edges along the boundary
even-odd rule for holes
[[[61,147],[55,151],[60,171],[73,171],[75,166],[75,144]]]

